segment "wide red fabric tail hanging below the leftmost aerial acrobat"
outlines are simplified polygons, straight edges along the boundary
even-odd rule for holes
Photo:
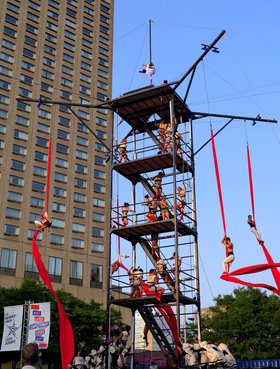
[[[41,260],[41,255],[38,250],[38,246],[36,244],[36,237],[39,231],[34,233],[32,239],[32,251],[34,260],[39,272],[40,277],[45,282],[45,284],[49,287],[51,292],[54,294],[56,301],[58,303],[58,311],[59,311],[59,324],[60,324],[60,347],[61,347],[61,362],[62,368],[67,369],[67,364],[72,361],[74,355],[74,335],[71,323],[62,307],[61,302],[59,301],[55,291],[52,288],[51,280],[49,279],[48,272],[44,266],[44,263]]]

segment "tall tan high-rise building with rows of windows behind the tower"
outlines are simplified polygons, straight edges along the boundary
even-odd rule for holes
[[[4,0],[0,50],[0,284],[38,277],[37,244],[55,289],[106,305],[108,170],[106,148],[63,105],[111,97],[114,0]],[[17,96],[48,104],[15,101]],[[61,101],[52,105],[51,101]],[[73,107],[109,138],[105,108]],[[50,138],[52,153],[49,155]],[[108,142],[109,140],[107,140]]]

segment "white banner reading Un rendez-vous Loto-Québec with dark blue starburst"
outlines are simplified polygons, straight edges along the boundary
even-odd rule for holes
[[[4,328],[1,351],[18,351],[21,343],[23,305],[4,307]]]

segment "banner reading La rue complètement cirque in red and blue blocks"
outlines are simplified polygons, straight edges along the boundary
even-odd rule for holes
[[[30,305],[27,343],[37,342],[40,349],[48,347],[51,319],[50,305],[49,302]]]

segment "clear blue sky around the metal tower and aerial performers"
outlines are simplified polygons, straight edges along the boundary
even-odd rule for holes
[[[216,45],[220,53],[209,52],[203,61],[204,70],[202,63],[197,67],[187,99],[189,108],[192,111],[249,117],[260,114],[262,118],[278,120],[280,55],[279,22],[275,15],[279,11],[280,3],[277,1],[115,0],[112,97],[149,83],[148,77],[138,73],[142,69],[141,64],[149,62],[149,19],[153,21],[154,85],[162,84],[165,79],[168,82],[178,79],[201,55],[200,44],[209,45],[225,29],[226,37],[222,37]],[[186,80],[177,89],[181,97],[184,97],[187,83]],[[214,133],[225,122],[221,118],[211,118]],[[280,129],[276,124],[257,123],[253,127],[251,124],[247,122],[246,127],[256,224],[274,262],[279,262],[276,230],[279,228]],[[121,124],[118,137],[122,138],[128,130],[128,125]],[[210,138],[209,118],[195,121],[193,131],[196,151]],[[215,138],[215,145],[227,234],[234,244],[235,261],[231,270],[266,263],[262,248],[247,225],[252,207],[244,121],[235,120],[229,124]],[[224,231],[211,145],[208,144],[195,156],[195,163],[201,306],[206,307],[213,304],[212,294],[231,293],[236,285],[219,278],[222,274],[221,261],[225,258],[225,249],[221,244]],[[124,185],[130,192],[129,182]],[[131,203],[131,195],[127,195],[126,191],[119,192],[119,199],[120,203]],[[142,190],[138,199],[142,199]],[[123,253],[124,248],[131,255],[130,246],[122,243]],[[180,254],[183,252],[180,251]],[[138,257],[137,264],[142,262],[146,265],[146,258]],[[124,264],[130,268],[128,260]],[[270,271],[244,276],[243,280],[275,285]]]

